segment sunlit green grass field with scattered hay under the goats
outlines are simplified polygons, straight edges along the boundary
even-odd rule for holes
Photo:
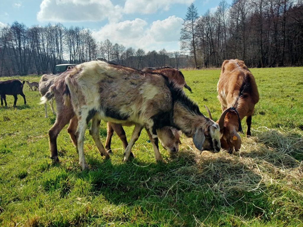
[[[252,69],[260,101],[251,138],[230,155],[198,152],[182,137],[176,156],[162,149],[157,164],[148,136],[124,163],[115,135],[104,160],[89,135],[81,170],[65,127],[58,137],[60,163],[49,156],[48,130],[55,122],[39,105],[39,93],[7,96],[0,107],[0,226],[303,226],[303,68]],[[220,70],[184,71],[201,112],[221,113],[216,85]],[[39,81],[37,76],[20,79]],[[8,78],[1,78],[1,80]],[[246,130],[245,120],[242,121]],[[128,138],[132,127],[125,128]],[[106,124],[100,135],[105,144]]]

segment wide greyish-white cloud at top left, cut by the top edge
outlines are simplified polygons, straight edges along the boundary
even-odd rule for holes
[[[43,0],[38,21],[118,21],[122,7],[110,0]]]

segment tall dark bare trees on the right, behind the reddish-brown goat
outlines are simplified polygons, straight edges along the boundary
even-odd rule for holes
[[[198,15],[191,4],[180,49],[196,66],[220,67],[238,58],[248,67],[303,65],[303,1],[222,0]]]

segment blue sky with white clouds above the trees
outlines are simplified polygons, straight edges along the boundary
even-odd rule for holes
[[[89,28],[97,41],[108,38],[126,48],[177,51],[192,2],[202,15],[215,11],[220,0],[0,0],[0,25],[61,23]]]

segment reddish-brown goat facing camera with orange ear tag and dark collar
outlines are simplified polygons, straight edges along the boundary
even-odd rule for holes
[[[220,118],[221,147],[232,153],[234,148],[241,148],[241,137],[237,131],[242,131],[241,120],[246,116],[246,136],[251,136],[251,116],[255,104],[259,101],[259,93],[254,76],[246,67],[244,61],[238,59],[225,60],[217,85],[218,99],[222,111],[227,112],[225,118]],[[229,107],[229,108],[227,108]],[[208,110],[208,109],[207,109]],[[211,114],[208,110],[208,114]]]

